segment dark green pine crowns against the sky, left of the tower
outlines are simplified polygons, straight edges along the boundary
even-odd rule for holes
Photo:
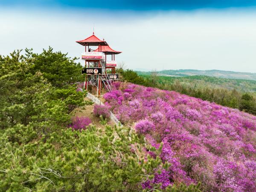
[[[25,55],[22,55],[21,51],[14,51],[10,56],[0,56],[0,77],[8,78],[10,81],[3,84],[0,79],[0,89],[14,83],[13,78],[17,79],[15,83],[20,86],[27,85],[28,82],[20,80],[28,75],[32,78],[32,75],[38,72],[41,72],[49,83],[58,87],[82,80],[82,66],[75,62],[77,58],[70,59],[67,54],[53,52],[51,47],[48,50],[44,49],[41,54],[33,53],[32,49],[25,49]]]

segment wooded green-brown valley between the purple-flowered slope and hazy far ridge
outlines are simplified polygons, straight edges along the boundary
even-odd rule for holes
[[[256,115],[256,81],[226,79],[203,75],[186,77],[160,76],[157,72],[134,72],[118,69],[123,80],[144,86],[177,91],[223,106]]]

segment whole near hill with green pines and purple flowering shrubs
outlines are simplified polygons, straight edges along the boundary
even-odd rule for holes
[[[126,81],[96,105],[67,54],[10,55],[0,56],[0,191],[256,190],[256,116]]]

